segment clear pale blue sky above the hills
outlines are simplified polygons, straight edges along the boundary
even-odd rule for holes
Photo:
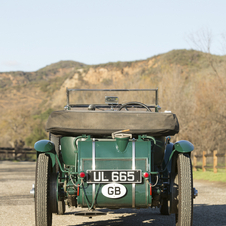
[[[206,29],[212,53],[226,54],[225,9],[225,0],[1,0],[0,72],[146,59],[191,49],[188,35]]]

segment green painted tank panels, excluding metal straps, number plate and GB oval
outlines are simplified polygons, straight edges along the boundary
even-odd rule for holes
[[[150,172],[151,164],[151,141],[137,140],[135,141],[136,161],[135,168],[142,172]],[[95,169],[96,170],[114,170],[114,169],[132,169],[132,140],[127,144],[124,152],[119,152],[116,148],[114,139],[95,141]],[[92,140],[78,141],[78,171],[92,170]],[[102,184],[104,186],[105,184]],[[131,207],[132,206],[132,184],[123,184],[127,189],[127,194],[120,199],[109,199],[97,194],[97,207]],[[84,183],[85,193],[92,203],[93,193],[92,185]],[[98,184],[95,185],[97,192]],[[101,189],[101,188],[100,188]],[[150,186],[147,180],[142,179],[142,183],[135,185],[135,206],[139,208],[148,207],[151,204],[152,198],[150,195]],[[77,203],[81,207],[88,207],[85,193],[81,189],[80,195],[77,197]]]

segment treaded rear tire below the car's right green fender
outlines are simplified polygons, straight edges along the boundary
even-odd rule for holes
[[[174,183],[178,187],[176,226],[191,226],[193,221],[193,177],[189,155],[178,155],[177,175]]]

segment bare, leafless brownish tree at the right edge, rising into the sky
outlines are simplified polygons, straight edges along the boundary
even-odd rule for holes
[[[206,53],[213,77],[203,77],[197,89],[197,104],[199,106],[198,123],[201,128],[200,147],[205,150],[224,150],[226,128],[226,82],[225,66],[220,64],[218,58],[211,54],[213,34],[209,29],[200,30],[188,36],[189,43],[196,49]],[[226,47],[226,38],[222,35],[222,46]],[[224,62],[225,64],[225,62]],[[217,79],[215,79],[217,78]]]

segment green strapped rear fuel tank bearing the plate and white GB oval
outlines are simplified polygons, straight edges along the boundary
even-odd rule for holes
[[[88,175],[84,188],[80,188],[78,206],[87,207],[87,202],[93,203],[96,197],[96,207],[148,207],[151,204],[150,185],[142,175],[144,172],[150,172],[150,164],[149,140],[130,139],[124,151],[117,148],[114,139],[78,141],[78,171],[87,175],[94,174],[91,179]],[[134,176],[140,174],[140,177],[136,178],[139,178],[138,182],[131,183],[128,180],[133,179],[134,171]],[[112,181],[111,174],[115,181]],[[120,176],[121,179],[128,180],[123,182]]]

